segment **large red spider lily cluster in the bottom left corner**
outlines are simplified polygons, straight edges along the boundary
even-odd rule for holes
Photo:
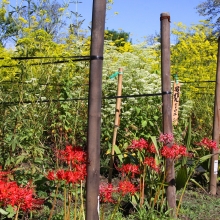
[[[0,203],[4,207],[11,205],[19,207],[23,211],[38,209],[43,204],[43,199],[36,199],[34,190],[30,186],[20,187],[16,182],[5,181],[5,175],[9,172],[1,171],[0,179]],[[2,178],[3,177],[3,178]]]

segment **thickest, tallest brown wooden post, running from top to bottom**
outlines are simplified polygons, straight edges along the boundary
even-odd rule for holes
[[[106,0],[93,0],[89,75],[86,220],[99,219],[102,64]]]

